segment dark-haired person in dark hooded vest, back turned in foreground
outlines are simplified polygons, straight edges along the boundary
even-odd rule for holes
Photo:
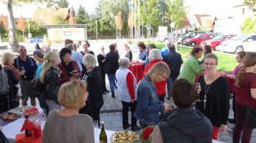
[[[197,89],[187,79],[178,79],[170,89],[174,109],[161,114],[152,133],[152,143],[211,142],[213,127],[210,120],[191,107],[197,98]]]

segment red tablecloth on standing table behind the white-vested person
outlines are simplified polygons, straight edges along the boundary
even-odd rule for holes
[[[134,76],[136,77],[137,83],[140,82],[140,80],[142,79],[144,67],[145,67],[144,63],[135,63],[129,66],[128,68],[130,71],[132,71],[132,74],[134,74]]]

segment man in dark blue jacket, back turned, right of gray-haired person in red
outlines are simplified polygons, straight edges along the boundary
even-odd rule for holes
[[[168,53],[163,55],[163,61],[165,61],[170,68],[170,76],[167,79],[168,97],[166,97],[167,99],[170,99],[170,87],[180,74],[180,66],[183,64],[183,60],[181,55],[175,51],[174,44],[169,44],[168,50]]]

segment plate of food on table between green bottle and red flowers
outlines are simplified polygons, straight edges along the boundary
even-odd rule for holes
[[[140,135],[132,131],[120,131],[111,135],[111,143],[129,143],[140,139]]]

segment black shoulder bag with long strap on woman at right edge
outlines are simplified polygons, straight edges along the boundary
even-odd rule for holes
[[[253,73],[252,73],[253,74]],[[249,78],[249,89],[248,89],[248,102],[247,102],[247,126],[250,128],[256,128],[256,109],[250,106],[250,88],[251,88],[251,79],[252,74]]]

